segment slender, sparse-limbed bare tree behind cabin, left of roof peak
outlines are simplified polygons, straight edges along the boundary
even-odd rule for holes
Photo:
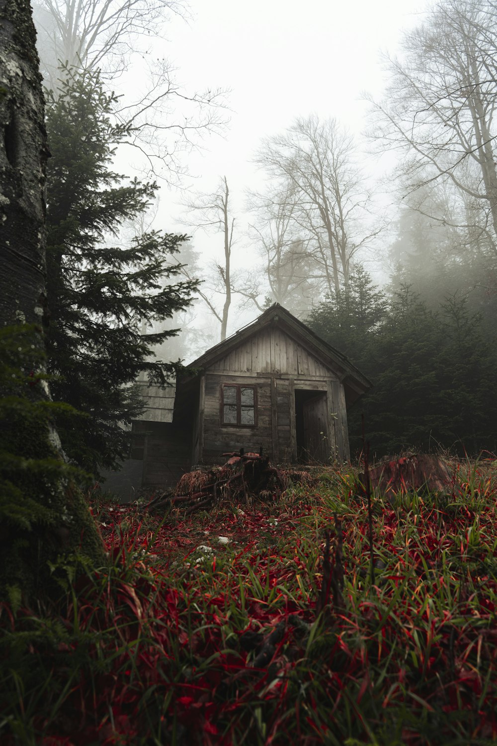
[[[186,212],[191,215],[188,222],[183,221],[184,225],[194,226],[203,231],[217,231],[223,235],[224,259],[215,265],[215,272],[212,280],[206,289],[211,292],[205,292],[203,289],[197,290],[198,295],[204,301],[211,313],[218,319],[221,324],[221,342],[226,339],[229,306],[232,298],[232,276],[231,276],[231,249],[233,245],[233,228],[235,218],[232,217],[229,206],[229,187],[226,176],[220,182],[218,189],[212,194],[197,194],[185,203]],[[210,288],[208,287],[210,284]],[[224,297],[222,310],[215,304],[212,295],[220,293]]]

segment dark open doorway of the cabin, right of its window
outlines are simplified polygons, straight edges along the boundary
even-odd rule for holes
[[[326,463],[329,444],[326,392],[295,389],[295,431],[298,463]]]

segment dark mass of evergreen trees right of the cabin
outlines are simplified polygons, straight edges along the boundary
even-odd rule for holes
[[[352,454],[362,448],[361,413],[376,457],[409,448],[495,451],[497,353],[481,315],[458,295],[430,310],[407,285],[387,304],[367,273],[356,278],[308,319],[373,382],[348,413]]]

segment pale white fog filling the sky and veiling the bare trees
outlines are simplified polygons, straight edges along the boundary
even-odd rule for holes
[[[196,357],[273,301],[306,319],[359,265],[379,286],[407,279],[431,304],[460,291],[480,310],[475,288],[495,254],[493,94],[488,81],[478,101],[458,93],[481,84],[464,78],[458,45],[473,37],[480,72],[492,72],[493,30],[481,25],[493,11],[455,5],[157,2],[148,16],[136,6],[114,46],[111,25],[100,46],[82,43],[121,96],[118,116],[139,128],[115,169],[160,186],[145,222],[192,236],[186,274],[203,283],[160,354]],[[48,7],[35,17],[53,72],[62,37],[51,49]]]

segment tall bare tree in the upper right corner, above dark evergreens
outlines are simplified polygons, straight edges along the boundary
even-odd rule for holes
[[[496,3],[438,1],[405,34],[402,51],[402,60],[387,57],[390,85],[384,101],[373,101],[368,134],[408,155],[405,194],[435,179],[452,183],[481,205],[495,238]]]

